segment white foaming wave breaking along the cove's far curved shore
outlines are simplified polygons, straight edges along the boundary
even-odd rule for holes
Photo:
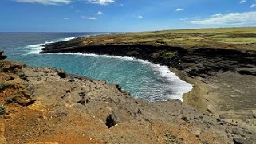
[[[102,58],[112,58],[112,59],[122,59],[127,61],[139,62],[142,64],[148,64],[154,71],[157,72],[158,76],[163,77],[167,80],[170,89],[175,89],[175,93],[170,95],[169,99],[179,99],[183,101],[183,94],[192,90],[193,86],[183,80],[180,80],[175,73],[171,72],[167,66],[163,66],[160,64],[153,64],[148,60],[136,59],[128,56],[110,56],[110,55],[97,55],[93,53],[49,53],[49,54],[59,54],[59,55],[77,55],[77,56],[91,56],[91,57],[102,57]],[[154,99],[150,99],[154,101]],[[167,99],[166,99],[167,100]]]

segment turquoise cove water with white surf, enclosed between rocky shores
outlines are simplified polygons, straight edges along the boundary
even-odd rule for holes
[[[152,64],[126,56],[108,56],[83,53],[28,54],[30,65],[61,68],[79,76],[119,84],[136,99],[165,101],[179,99],[191,91],[188,84],[170,72],[166,66]]]

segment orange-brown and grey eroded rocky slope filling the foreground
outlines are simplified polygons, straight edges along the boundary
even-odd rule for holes
[[[132,99],[116,84],[10,61],[0,73],[0,143],[256,142],[180,101]]]

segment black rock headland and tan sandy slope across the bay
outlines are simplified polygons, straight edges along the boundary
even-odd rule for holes
[[[137,40],[144,41],[144,33],[86,37],[78,42],[75,40],[69,43],[44,45],[45,48],[41,53],[132,56],[154,64],[166,65],[181,80],[194,85],[193,90],[183,96],[185,103],[217,119],[256,131],[254,125],[256,51],[249,48],[250,45],[232,44],[233,49],[226,48],[226,44],[216,43],[218,48],[216,45],[212,48],[200,46],[187,48],[166,45],[161,41],[126,42],[127,37],[130,41],[133,37],[140,35],[141,39]],[[147,37],[154,37],[154,35],[156,33],[146,33]],[[237,49],[239,46],[242,47],[241,50]],[[245,51],[245,47],[250,50]]]

